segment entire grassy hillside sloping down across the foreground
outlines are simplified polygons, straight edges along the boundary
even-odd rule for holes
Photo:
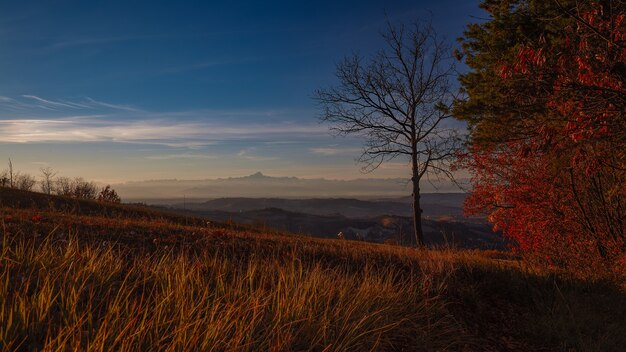
[[[622,351],[618,284],[0,190],[2,350]]]

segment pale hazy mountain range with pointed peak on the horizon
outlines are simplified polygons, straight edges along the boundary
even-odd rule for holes
[[[436,190],[423,185],[424,192],[458,192],[450,183]],[[158,201],[172,199],[215,199],[223,197],[279,198],[375,198],[401,197],[411,194],[408,179],[368,178],[354,180],[303,179],[272,177],[260,172],[244,177],[207,180],[150,180],[113,186],[125,201]]]

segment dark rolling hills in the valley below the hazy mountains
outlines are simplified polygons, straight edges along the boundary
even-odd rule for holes
[[[463,216],[462,193],[422,195],[423,229],[429,245],[454,244],[463,248],[504,248],[499,234],[483,218]],[[217,221],[234,221],[316,237],[336,237],[371,242],[408,243],[413,228],[409,197],[354,198],[217,198],[172,203],[176,209]]]

